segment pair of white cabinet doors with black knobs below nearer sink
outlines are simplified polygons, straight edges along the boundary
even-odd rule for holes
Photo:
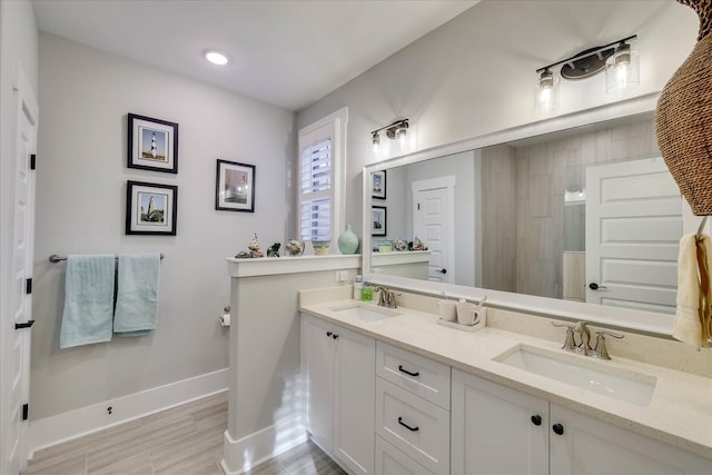
[[[712,461],[453,370],[453,475],[709,475]]]

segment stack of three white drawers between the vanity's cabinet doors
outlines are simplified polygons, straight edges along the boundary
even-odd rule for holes
[[[378,342],[376,474],[449,474],[451,367]]]

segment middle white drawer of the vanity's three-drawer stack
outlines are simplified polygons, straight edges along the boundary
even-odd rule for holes
[[[449,412],[379,377],[376,434],[428,471],[449,473]]]

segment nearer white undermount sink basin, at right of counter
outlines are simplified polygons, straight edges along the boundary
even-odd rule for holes
[[[639,406],[650,404],[657,383],[653,376],[604,366],[583,355],[562,355],[526,345],[517,345],[494,360]]]

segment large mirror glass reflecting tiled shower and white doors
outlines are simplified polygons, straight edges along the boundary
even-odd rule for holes
[[[388,169],[414,278],[674,314],[680,191],[652,115]],[[380,200],[379,200],[380,201]],[[373,273],[403,276],[374,238]]]

